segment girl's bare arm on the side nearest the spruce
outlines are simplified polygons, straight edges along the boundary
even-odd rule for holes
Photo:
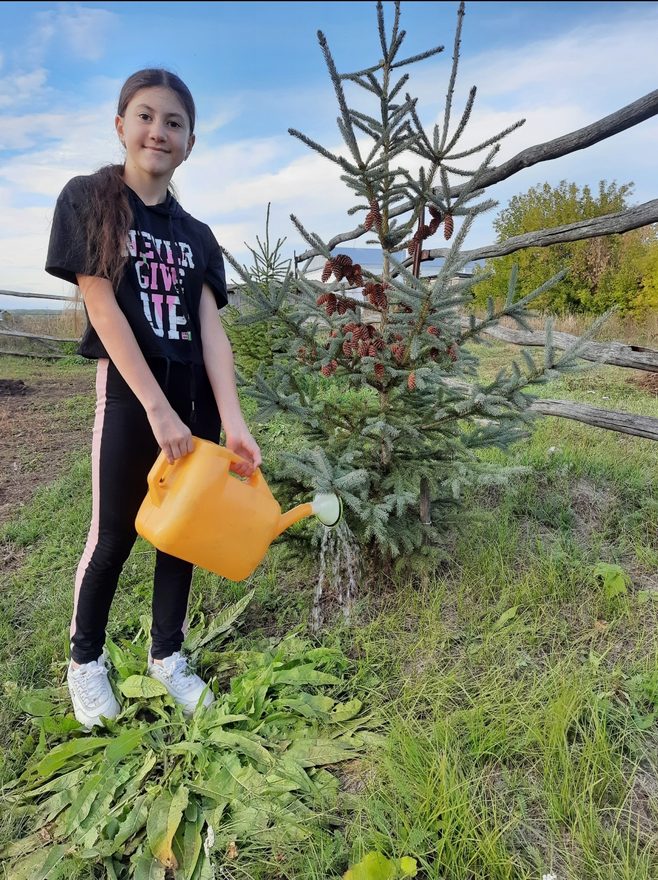
[[[251,436],[240,409],[231,343],[217,314],[213,292],[207,284],[203,285],[201,293],[199,318],[203,361],[222,419],[226,446],[249,463],[236,464],[232,469],[241,476],[248,477],[261,464],[260,449]]]

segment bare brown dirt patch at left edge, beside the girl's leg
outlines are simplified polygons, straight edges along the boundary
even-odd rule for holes
[[[91,443],[95,371],[0,379],[0,525]],[[77,413],[76,400],[85,405]],[[88,402],[87,402],[88,401]]]

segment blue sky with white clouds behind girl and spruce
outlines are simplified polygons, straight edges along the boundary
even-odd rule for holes
[[[393,4],[385,9],[391,22]],[[429,125],[443,107],[456,11],[456,2],[402,3],[407,54],[446,47],[410,68]],[[120,161],[116,97],[140,67],[168,67],[188,83],[197,145],[175,182],[184,207],[238,259],[248,260],[244,242],[262,235],[268,202],[271,234],[287,236],[289,252],[303,247],[291,212],[327,238],[351,228],[351,195],[333,166],[287,133],[341,147],[318,29],[340,70],[379,58],[374,2],[0,2],[0,288],[69,292],[43,272],[54,201],[74,175]],[[456,113],[477,85],[468,142],[525,117],[504,160],[641,97],[656,88],[656,33],[654,2],[467,3]],[[657,166],[654,119],[528,169],[491,195],[504,206],[545,180],[632,180],[633,201],[643,202],[656,196]],[[493,239],[495,213],[478,221],[467,247]],[[16,300],[0,298],[7,305]]]

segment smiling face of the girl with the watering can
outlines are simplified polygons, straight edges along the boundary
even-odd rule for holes
[[[166,86],[140,89],[115,124],[126,148],[127,169],[140,176],[166,178],[168,183],[194,146],[187,111]]]

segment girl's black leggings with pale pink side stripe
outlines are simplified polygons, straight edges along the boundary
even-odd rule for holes
[[[203,367],[160,359],[149,366],[192,433],[219,442],[219,414]],[[143,406],[114,364],[100,360],[92,444],[92,522],[78,566],[71,621],[71,656],[76,663],[97,660],[102,653],[110,606],[137,537],[135,517],[158,451]],[[156,552],[151,627],[155,659],[168,657],[183,643],[192,568],[189,562]]]

